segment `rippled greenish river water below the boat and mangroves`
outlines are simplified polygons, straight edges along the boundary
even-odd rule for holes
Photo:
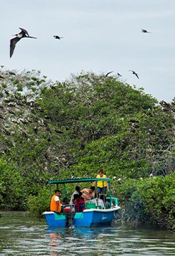
[[[47,228],[25,212],[1,212],[0,256],[175,255],[175,233],[114,223],[100,228]]]

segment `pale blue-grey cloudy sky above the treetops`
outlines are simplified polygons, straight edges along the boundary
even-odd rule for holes
[[[113,71],[159,101],[175,97],[174,0],[4,0],[0,21],[7,70],[40,70],[60,82],[82,70]],[[22,38],[10,58],[19,28],[37,39]]]

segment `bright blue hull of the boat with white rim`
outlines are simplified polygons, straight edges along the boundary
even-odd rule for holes
[[[116,213],[120,209],[119,206],[110,209],[88,209],[82,213],[75,213],[72,220],[72,226],[77,227],[93,227],[98,225],[111,225]],[[52,211],[43,213],[50,228],[66,228],[67,217],[63,213],[57,214]]]

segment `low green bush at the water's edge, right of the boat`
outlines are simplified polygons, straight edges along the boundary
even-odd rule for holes
[[[125,219],[141,223],[156,223],[175,229],[175,174],[128,179],[118,186],[120,205],[125,207]]]

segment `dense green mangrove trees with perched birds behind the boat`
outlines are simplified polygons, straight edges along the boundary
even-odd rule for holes
[[[174,100],[157,102],[103,74],[52,82],[1,66],[1,76],[1,209],[40,215],[49,179],[103,168],[123,218],[175,228]]]

